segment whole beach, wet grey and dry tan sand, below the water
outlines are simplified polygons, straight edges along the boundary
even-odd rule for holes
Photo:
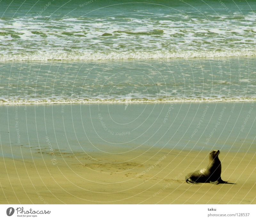
[[[1,106],[0,203],[255,204],[254,104]],[[187,184],[213,149],[233,184]]]

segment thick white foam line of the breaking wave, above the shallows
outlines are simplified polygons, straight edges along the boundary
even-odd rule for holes
[[[204,58],[204,57],[251,57],[256,50],[230,51],[154,51],[154,52],[111,52],[104,53],[41,53],[0,55],[0,61],[47,61],[47,60],[127,60],[127,59],[169,59],[169,58]]]

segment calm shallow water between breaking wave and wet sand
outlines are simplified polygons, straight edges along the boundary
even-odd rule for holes
[[[0,104],[255,101],[254,61],[5,62]]]

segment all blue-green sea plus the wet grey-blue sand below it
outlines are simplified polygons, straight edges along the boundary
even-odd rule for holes
[[[255,152],[255,9],[231,0],[0,1],[1,155],[35,155],[49,143],[67,152]]]

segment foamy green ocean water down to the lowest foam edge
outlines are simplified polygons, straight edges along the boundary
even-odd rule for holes
[[[255,1],[1,1],[0,104],[255,101]]]

